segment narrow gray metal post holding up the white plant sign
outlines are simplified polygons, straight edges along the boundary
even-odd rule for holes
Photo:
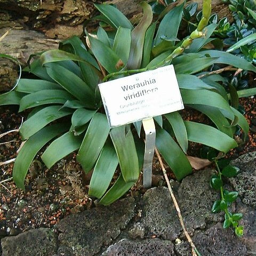
[[[145,142],[145,154],[144,154],[144,164],[143,164],[143,187],[151,187],[152,179],[152,164],[153,156],[155,152],[155,142],[156,142],[156,127],[154,119],[143,119],[142,125],[146,134]]]

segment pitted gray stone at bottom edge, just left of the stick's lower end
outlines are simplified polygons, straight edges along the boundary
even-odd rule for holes
[[[174,246],[170,241],[158,238],[134,241],[123,239],[108,247],[102,256],[174,256]]]

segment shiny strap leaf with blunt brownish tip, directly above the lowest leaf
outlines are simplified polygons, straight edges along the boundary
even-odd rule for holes
[[[90,196],[100,198],[104,195],[113,178],[117,165],[118,158],[115,148],[111,143],[106,142],[92,173],[89,187]]]

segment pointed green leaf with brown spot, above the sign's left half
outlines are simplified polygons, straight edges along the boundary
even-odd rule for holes
[[[90,39],[91,49],[95,58],[101,63],[101,65],[108,71],[108,73],[114,73],[122,67],[124,63],[120,63],[118,55],[103,44],[99,39],[87,35]]]

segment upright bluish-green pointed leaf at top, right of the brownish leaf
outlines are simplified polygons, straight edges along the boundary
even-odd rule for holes
[[[155,46],[162,42],[161,38],[169,39],[177,37],[180,22],[182,19],[183,7],[184,4],[176,6],[165,15],[163,20],[160,22],[156,33],[154,43]]]

